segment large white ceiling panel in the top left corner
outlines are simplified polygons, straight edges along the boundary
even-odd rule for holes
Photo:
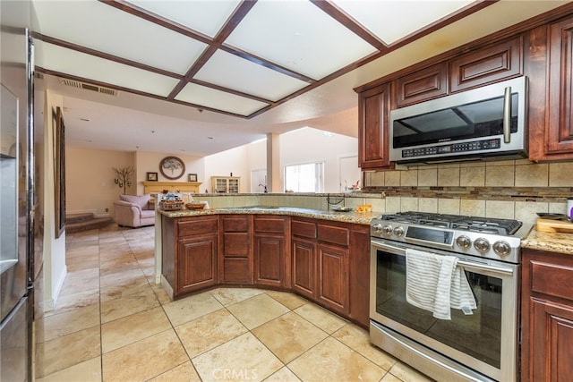
[[[37,3],[42,34],[181,75],[207,47],[107,4],[61,3]]]

